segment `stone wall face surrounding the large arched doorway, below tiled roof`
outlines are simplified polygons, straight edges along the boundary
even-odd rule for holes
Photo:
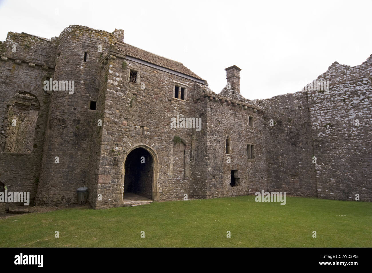
[[[152,199],[181,199],[184,194],[193,196],[192,178],[200,168],[196,166],[203,164],[194,161],[193,156],[190,158],[196,152],[192,139],[198,134],[192,128],[171,127],[171,118],[198,117],[193,108],[193,82],[126,59],[118,53],[122,51],[120,44],[117,46],[103,64],[103,71],[108,73],[107,77],[105,75],[97,178],[97,194],[102,194],[103,198],[97,200],[96,207],[122,204],[124,163],[126,155],[136,147],[144,147],[157,157],[154,158],[157,182],[154,182]],[[131,70],[137,71],[136,82],[129,81]],[[185,100],[174,98],[176,84],[186,87]],[[100,105],[103,104],[100,102]],[[175,137],[181,143],[174,142]]]

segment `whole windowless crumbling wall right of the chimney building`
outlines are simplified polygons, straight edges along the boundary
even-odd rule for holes
[[[270,190],[372,200],[371,60],[354,67],[334,62],[317,78],[330,82],[328,94],[310,90],[256,100],[265,107]]]

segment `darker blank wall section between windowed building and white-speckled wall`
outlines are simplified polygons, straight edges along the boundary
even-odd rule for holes
[[[265,107],[268,191],[317,196],[307,92],[256,102]]]

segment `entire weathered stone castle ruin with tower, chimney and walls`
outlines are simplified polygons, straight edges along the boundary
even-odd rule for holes
[[[51,40],[9,32],[0,42],[0,182],[9,191],[29,191],[31,204],[76,204],[87,186],[93,208],[122,206],[125,192],[371,201],[371,56],[332,64],[317,79],[330,81],[329,94],[248,100],[237,66],[217,94],[181,63],[123,40],[124,30],[73,25]],[[50,78],[74,81],[74,92],[44,90]],[[173,128],[177,116],[201,118],[201,130]]]

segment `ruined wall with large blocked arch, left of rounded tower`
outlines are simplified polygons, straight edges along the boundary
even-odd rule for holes
[[[13,46],[15,45],[15,46]],[[0,181],[30,192],[34,203],[50,95],[43,81],[54,71],[57,41],[9,32],[0,42]],[[13,51],[12,51],[13,49]],[[12,120],[16,120],[12,126]]]

